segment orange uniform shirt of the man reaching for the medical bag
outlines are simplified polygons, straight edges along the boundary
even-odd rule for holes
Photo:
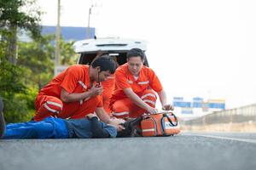
[[[153,89],[155,92],[160,92],[163,88],[159,78],[155,75],[154,71],[143,66],[139,73],[137,80],[128,69],[128,64],[119,66],[115,71],[115,89],[113,91],[111,104],[119,99],[127,98],[124,92],[125,88],[131,88],[135,94],[141,96],[147,89]]]

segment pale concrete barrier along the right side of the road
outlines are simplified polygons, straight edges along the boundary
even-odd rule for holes
[[[250,129],[249,132],[252,132],[256,130],[256,104],[214,111],[212,114],[194,120],[181,121],[180,125],[183,130],[192,131],[209,131],[209,129],[211,129],[210,131],[239,131],[239,129],[243,131]]]

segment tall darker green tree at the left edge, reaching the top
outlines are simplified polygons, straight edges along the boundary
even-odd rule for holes
[[[41,12],[33,0],[0,0],[0,95],[3,97],[7,122],[27,121],[33,114],[32,96],[37,91],[24,82],[28,70],[15,65],[17,31],[31,32],[40,37]]]

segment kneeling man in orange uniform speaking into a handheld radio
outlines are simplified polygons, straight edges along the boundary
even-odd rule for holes
[[[96,59],[90,66],[68,67],[40,90],[33,120],[41,121],[48,116],[78,119],[96,111],[102,122],[110,123],[102,107],[103,88],[96,82],[106,80],[115,69],[115,63],[108,57]]]

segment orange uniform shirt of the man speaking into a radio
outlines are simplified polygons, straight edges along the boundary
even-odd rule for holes
[[[89,65],[72,65],[61,72],[48,85],[42,88],[39,95],[49,95],[61,99],[61,88],[67,93],[84,93],[90,87]],[[78,101],[79,102],[79,101]],[[97,105],[102,107],[102,102]]]

